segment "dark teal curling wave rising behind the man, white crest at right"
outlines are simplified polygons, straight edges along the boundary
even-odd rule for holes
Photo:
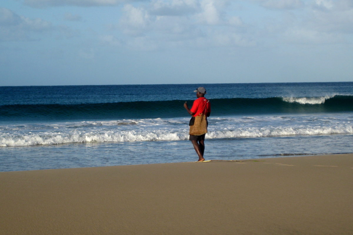
[[[212,115],[353,111],[352,95],[212,99]],[[185,117],[184,100],[100,104],[2,105],[0,120],[97,120]],[[189,100],[189,105],[192,104]]]

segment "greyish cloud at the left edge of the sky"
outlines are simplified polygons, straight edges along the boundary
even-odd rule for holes
[[[54,29],[49,21],[19,16],[4,7],[0,7],[0,25],[2,25],[0,41],[33,40],[32,36],[35,33],[48,32]]]

